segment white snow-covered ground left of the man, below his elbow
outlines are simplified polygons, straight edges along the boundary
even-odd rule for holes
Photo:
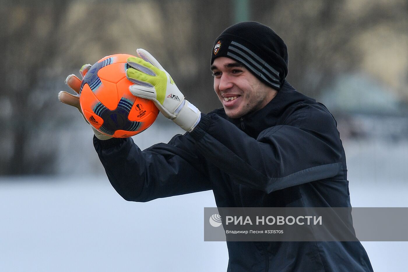
[[[3,179],[0,206],[1,271],[226,271],[211,191],[131,203],[107,178]]]

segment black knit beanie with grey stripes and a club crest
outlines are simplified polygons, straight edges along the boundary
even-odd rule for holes
[[[215,58],[242,63],[259,80],[279,90],[288,74],[288,49],[270,27],[259,22],[240,22],[225,29],[215,40]]]

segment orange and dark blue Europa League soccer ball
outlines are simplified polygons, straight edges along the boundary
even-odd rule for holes
[[[150,100],[133,96],[126,78],[132,55],[115,54],[96,62],[84,76],[80,105],[88,122],[103,134],[126,138],[153,124],[159,110]]]

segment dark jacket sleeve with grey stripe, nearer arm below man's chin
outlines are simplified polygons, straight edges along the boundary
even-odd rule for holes
[[[284,125],[270,127],[257,139],[216,114],[202,114],[190,133],[197,150],[248,187],[270,193],[336,176],[341,141],[330,113],[304,105]]]

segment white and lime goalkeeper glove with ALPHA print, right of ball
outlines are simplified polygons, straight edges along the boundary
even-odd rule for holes
[[[177,88],[162,65],[146,50],[137,49],[140,58],[130,57],[127,78],[135,83],[130,92],[152,100],[160,112],[186,131],[192,131],[200,121],[201,112]]]

